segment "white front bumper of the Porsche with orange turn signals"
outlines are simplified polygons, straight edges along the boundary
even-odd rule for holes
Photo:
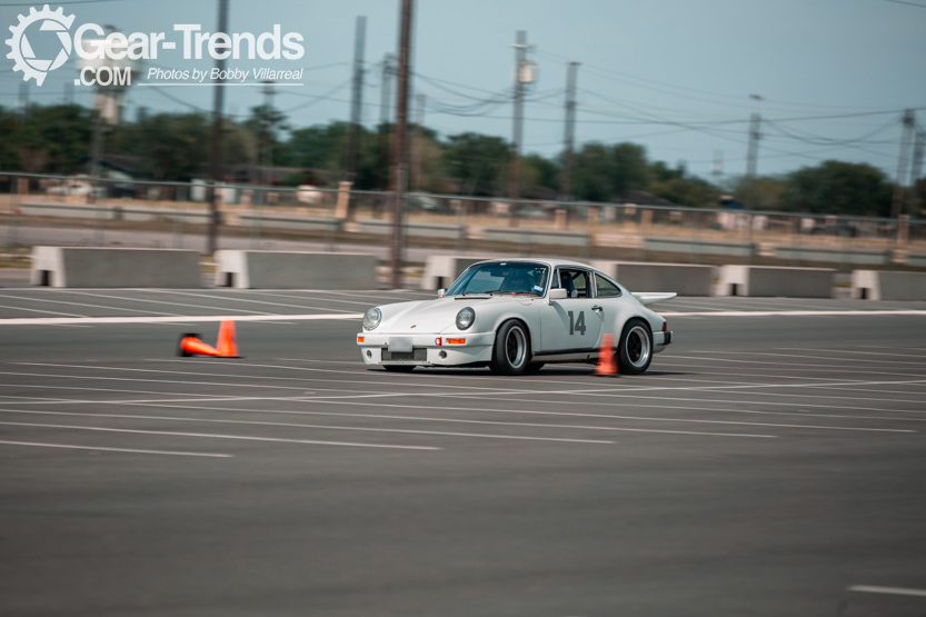
[[[389,339],[392,337],[411,339],[411,351],[389,352]],[[450,344],[448,339],[464,339],[466,342]],[[491,360],[494,346],[495,332],[460,332],[449,336],[438,332],[411,336],[386,332],[357,335],[357,347],[360,348],[364,364],[372,366],[455,367],[482,364]]]

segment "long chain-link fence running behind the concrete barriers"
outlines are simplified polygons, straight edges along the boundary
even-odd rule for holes
[[[159,182],[39,175],[0,175],[0,215],[8,247],[17,227],[43,221],[84,228],[82,243],[106,245],[108,230],[159,232],[170,248],[203,249],[210,222],[208,181]],[[386,247],[392,193],[315,187],[222,183],[219,246],[263,248],[268,238],[333,247]],[[636,203],[512,201],[471,196],[408,195],[409,247],[444,251],[551,253],[576,258],[926,267],[926,222],[899,219],[696,209]],[[92,231],[92,232],[91,232]]]

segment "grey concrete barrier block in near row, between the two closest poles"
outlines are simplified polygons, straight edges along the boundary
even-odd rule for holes
[[[216,285],[239,289],[376,289],[376,257],[347,252],[218,250]]]

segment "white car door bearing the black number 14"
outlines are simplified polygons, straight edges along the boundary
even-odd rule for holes
[[[597,350],[604,318],[601,306],[595,298],[594,275],[583,268],[560,267],[554,276],[557,287],[568,289],[566,283],[571,280],[576,297],[551,300],[541,306],[541,354]]]

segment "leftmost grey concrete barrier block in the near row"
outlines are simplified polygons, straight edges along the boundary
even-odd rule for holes
[[[202,287],[199,252],[173,249],[34,247],[31,281],[51,287]]]

